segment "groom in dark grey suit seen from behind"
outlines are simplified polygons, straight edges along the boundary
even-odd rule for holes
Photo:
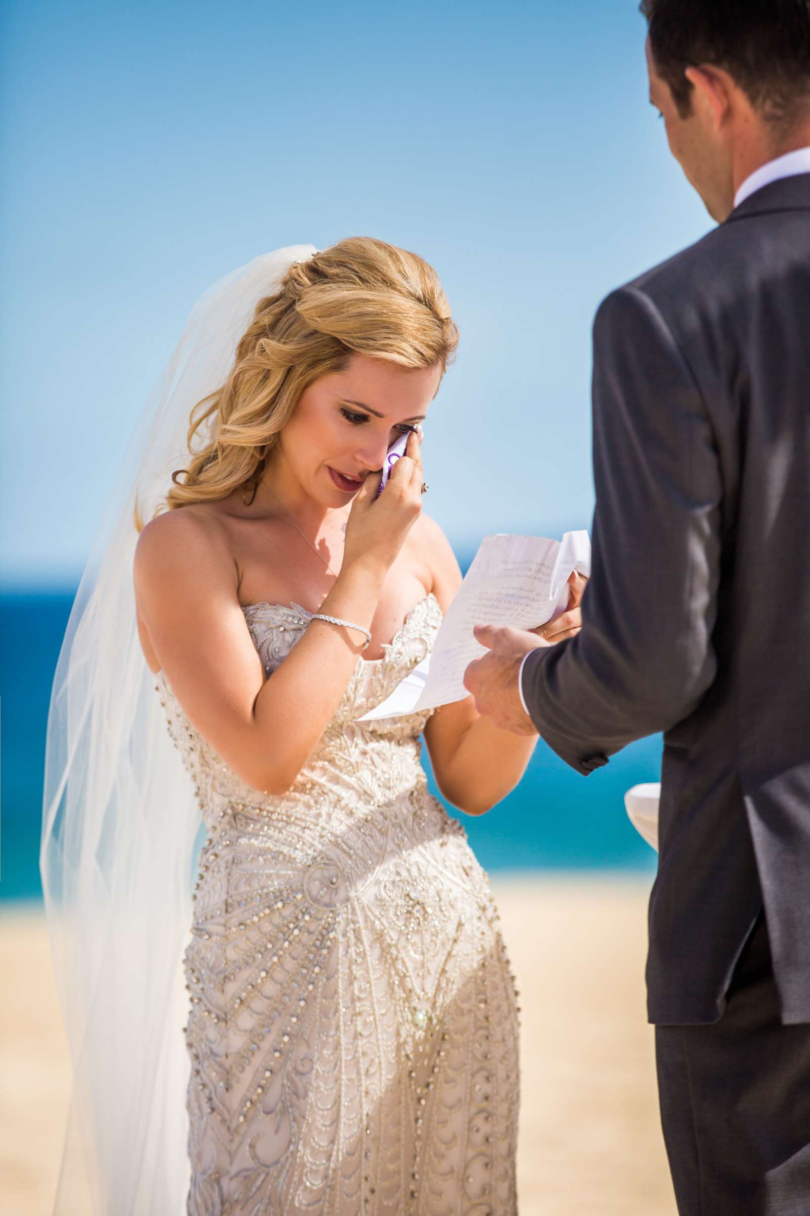
[[[593,575],[478,709],[588,775],[664,732],[648,1017],[681,1216],[810,1214],[810,0],[644,0],[719,223],[594,327]]]

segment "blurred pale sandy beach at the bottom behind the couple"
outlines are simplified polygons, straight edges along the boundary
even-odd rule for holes
[[[645,1017],[650,882],[493,878],[521,992],[521,1216],[675,1216]],[[69,1062],[35,908],[0,913],[0,1206],[50,1216]]]

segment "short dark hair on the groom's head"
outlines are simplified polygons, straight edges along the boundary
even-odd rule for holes
[[[810,106],[810,0],[641,0],[656,71],[681,118],[692,109],[684,72],[725,68],[774,122]]]

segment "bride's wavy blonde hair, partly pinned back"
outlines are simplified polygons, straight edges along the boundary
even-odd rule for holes
[[[290,266],[278,291],[256,304],[225,384],[192,409],[188,468],[171,474],[154,514],[223,499],[240,486],[253,485],[255,494],[301,394],[341,371],[352,354],[409,368],[438,364],[443,375],[457,345],[438,276],[415,253],[350,237]],[[137,506],[135,527],[143,529]]]

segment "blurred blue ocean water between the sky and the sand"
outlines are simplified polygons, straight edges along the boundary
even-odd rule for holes
[[[73,591],[0,592],[0,899],[40,896],[45,724]],[[425,765],[429,769],[425,754]],[[652,850],[630,826],[623,795],[657,781],[661,737],[641,739],[590,777],[544,743],[519,788],[488,815],[460,815],[486,869],[653,869]],[[429,772],[430,777],[430,772]],[[432,777],[431,788],[436,790]]]

